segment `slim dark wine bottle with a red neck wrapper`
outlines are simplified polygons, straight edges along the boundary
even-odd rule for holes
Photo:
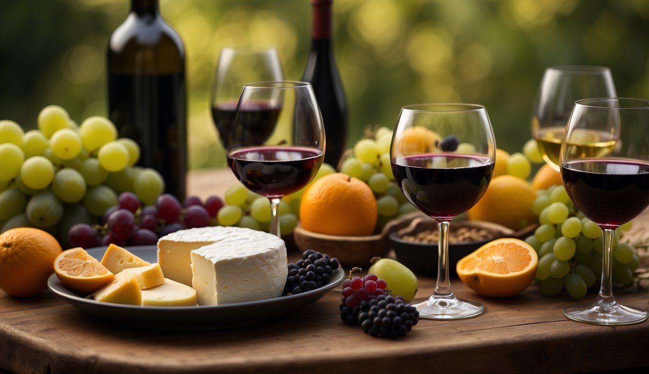
[[[302,81],[310,82],[324,121],[324,162],[338,165],[347,146],[347,102],[332,44],[333,0],[311,0],[313,28],[311,52]]]

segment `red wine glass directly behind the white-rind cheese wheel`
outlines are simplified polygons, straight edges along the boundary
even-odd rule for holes
[[[227,158],[244,186],[270,199],[270,232],[280,236],[280,199],[306,186],[324,158],[323,119],[311,84],[245,84],[228,136]]]

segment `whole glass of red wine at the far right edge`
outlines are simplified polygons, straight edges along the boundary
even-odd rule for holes
[[[584,139],[592,131],[611,134],[615,142]],[[567,306],[563,313],[570,319],[597,325],[647,319],[645,310],[615,301],[612,280],[615,230],[649,206],[648,139],[647,100],[584,99],[574,104],[561,144],[561,177],[574,206],[602,229],[604,249],[600,292],[593,303]]]

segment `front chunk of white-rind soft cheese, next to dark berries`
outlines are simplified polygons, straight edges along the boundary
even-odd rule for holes
[[[237,229],[236,234],[191,251],[191,284],[199,305],[282,295],[288,273],[284,240],[267,232]]]

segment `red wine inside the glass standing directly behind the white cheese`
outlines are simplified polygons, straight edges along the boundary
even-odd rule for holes
[[[250,147],[230,153],[228,165],[249,190],[276,198],[306,186],[323,157],[322,151],[307,147]]]

